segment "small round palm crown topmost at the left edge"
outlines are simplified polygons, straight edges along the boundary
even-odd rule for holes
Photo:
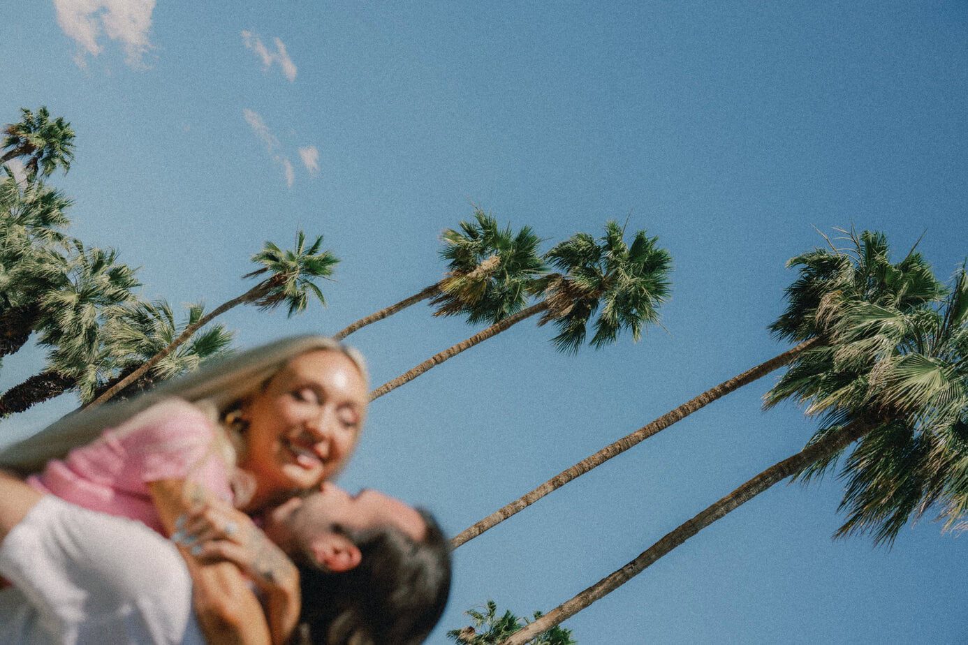
[[[36,116],[26,107],[20,108],[21,119],[5,129],[3,147],[7,151],[0,157],[0,165],[15,158],[25,158],[28,176],[48,177],[57,166],[64,172],[71,169],[74,161],[74,130],[71,124],[57,117],[50,120],[50,113],[42,106]]]

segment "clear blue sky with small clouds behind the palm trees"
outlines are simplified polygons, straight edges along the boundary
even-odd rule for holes
[[[53,180],[71,232],[140,266],[145,297],[214,307],[248,288],[263,241],[323,234],[343,260],[328,308],[233,310],[239,346],[331,333],[436,281],[439,233],[471,204],[545,248],[608,219],[657,235],[676,267],[664,330],[569,357],[522,323],[374,403],[343,483],[456,533],[783,351],[766,328],[814,226],[881,230],[898,253],[924,233],[953,273],[966,18],[962,2],[7,3],[0,122],[41,104],[72,122],[76,162]],[[417,307],[351,340],[377,385],[472,331]],[[0,387],[42,366],[25,349]],[[489,598],[558,605],[800,450],[814,425],[760,409],[773,380],[459,549],[431,642]],[[833,542],[840,492],[777,485],[566,625],[583,645],[964,642],[964,538],[925,519],[892,550]]]

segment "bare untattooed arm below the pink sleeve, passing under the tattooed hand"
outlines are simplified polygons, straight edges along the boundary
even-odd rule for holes
[[[200,486],[183,480],[152,482],[148,489],[168,535],[173,533],[176,519],[189,513],[203,499]],[[193,500],[191,495],[197,499]],[[184,546],[179,546],[179,551],[195,584],[193,596],[198,624],[209,645],[272,642],[262,607],[235,565],[230,562],[202,564]]]

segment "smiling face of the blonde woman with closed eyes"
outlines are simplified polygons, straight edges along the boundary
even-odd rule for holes
[[[256,478],[257,499],[332,477],[356,445],[368,400],[366,379],[343,352],[290,360],[242,406],[248,429],[239,465]]]

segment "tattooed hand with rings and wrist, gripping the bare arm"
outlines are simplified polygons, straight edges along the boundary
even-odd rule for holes
[[[292,593],[298,588],[299,573],[283,550],[249,515],[222,500],[197,500],[189,513],[175,520],[171,540],[189,549],[199,562],[231,562],[264,591]]]

